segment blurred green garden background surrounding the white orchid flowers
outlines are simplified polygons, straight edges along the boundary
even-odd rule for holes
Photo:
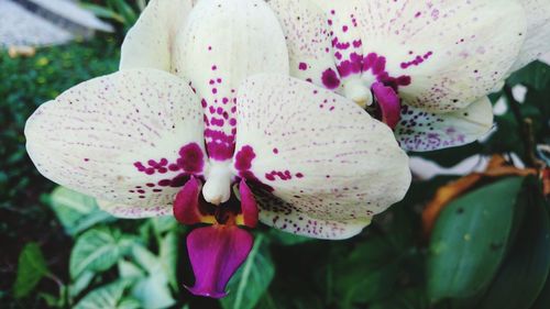
[[[42,177],[23,128],[43,102],[117,70],[146,1],[0,0],[0,308],[550,308],[550,68],[492,95],[495,126],[410,154],[407,197],[356,238],[261,227],[221,301],[193,297],[188,232],[118,220]]]

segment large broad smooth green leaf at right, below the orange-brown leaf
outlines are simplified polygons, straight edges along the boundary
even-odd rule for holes
[[[470,192],[442,211],[428,256],[431,300],[468,298],[483,290],[504,260],[524,178],[513,177]]]

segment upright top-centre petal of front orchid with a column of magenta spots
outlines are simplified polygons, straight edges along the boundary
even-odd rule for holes
[[[230,159],[237,133],[235,91],[257,73],[288,74],[280,25],[262,0],[201,0],[178,36],[186,46],[175,66],[205,108],[205,137],[211,159]]]

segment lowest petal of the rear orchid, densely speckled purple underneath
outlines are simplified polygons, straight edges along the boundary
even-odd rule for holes
[[[474,142],[493,126],[493,107],[483,98],[470,107],[449,113],[431,113],[404,106],[395,135],[402,147],[428,152]]]

